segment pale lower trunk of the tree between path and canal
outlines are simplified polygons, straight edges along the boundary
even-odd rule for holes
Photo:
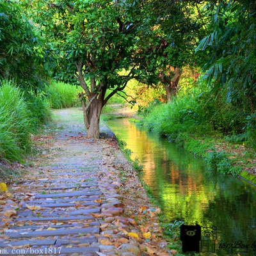
[[[86,110],[84,101],[82,100],[83,114],[84,114],[84,125],[86,127],[86,135],[88,138],[100,138],[100,113],[103,107],[102,100],[94,99]]]

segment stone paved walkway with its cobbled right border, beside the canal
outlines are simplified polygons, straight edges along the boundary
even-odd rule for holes
[[[47,152],[12,186],[2,209],[0,255],[141,255],[122,229],[123,223],[136,223],[120,217],[113,149],[104,140],[86,139],[83,123],[68,111],[58,115],[64,129],[36,138]],[[117,219],[115,230],[108,227]]]

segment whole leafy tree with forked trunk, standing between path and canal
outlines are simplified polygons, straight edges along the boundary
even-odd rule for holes
[[[128,81],[158,81],[165,40],[143,1],[37,1],[35,22],[58,56],[55,77],[79,83],[88,136],[99,138],[104,104]],[[106,90],[111,92],[106,95]],[[84,100],[86,102],[84,102]]]

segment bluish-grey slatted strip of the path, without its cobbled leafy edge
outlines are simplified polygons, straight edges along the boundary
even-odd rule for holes
[[[95,252],[100,250],[103,223],[100,209],[111,202],[112,211],[118,215],[121,210],[115,205],[120,202],[116,185],[100,185],[99,181],[100,167],[109,160],[104,151],[106,144],[85,139],[82,131],[79,124],[67,125],[49,142],[49,154],[58,148],[52,150],[52,159],[45,157],[45,164],[36,170],[31,168],[24,182],[17,185],[17,193],[13,186],[19,210],[12,216],[12,225],[4,229],[2,252],[21,255],[25,248],[26,255],[98,255]],[[106,215],[112,216],[108,211]],[[108,255],[115,255],[107,249]]]

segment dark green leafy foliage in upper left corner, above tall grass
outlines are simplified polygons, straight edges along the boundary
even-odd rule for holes
[[[24,15],[20,1],[0,3],[0,79],[14,79],[26,90],[44,86],[51,65],[40,31]]]

